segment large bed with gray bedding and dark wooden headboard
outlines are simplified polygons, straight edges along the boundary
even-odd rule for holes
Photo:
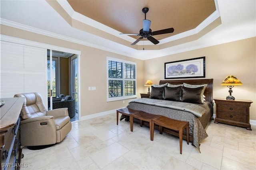
[[[200,101],[200,91],[202,88],[192,87],[193,89],[180,87],[181,92],[178,94],[176,90],[176,99],[173,89],[175,88],[166,88],[167,83],[171,85],[181,85],[183,83],[188,85],[206,85],[204,88],[204,101]],[[212,120],[213,107],[212,107],[212,83],[213,79],[196,79],[196,80],[160,80],[160,85],[163,85],[164,89],[162,96],[158,94],[156,97],[156,89],[159,92],[161,87],[152,87],[150,98],[139,98],[134,99],[129,102],[128,108],[141,110],[147,113],[152,113],[156,115],[163,115],[170,117],[172,119],[188,121],[189,122],[189,135],[192,145],[194,145],[198,150],[200,149],[200,141],[208,137],[205,129],[207,125]],[[172,90],[171,93],[168,90]],[[169,97],[165,98],[164,96]],[[171,94],[171,95],[170,95]],[[183,94],[183,98],[181,97]],[[192,95],[193,94],[193,95]],[[197,96],[195,96],[196,94]],[[180,97],[180,98],[178,98]],[[197,98],[197,99],[195,99]],[[192,100],[191,100],[192,99]],[[176,100],[176,101],[175,101]],[[178,133],[171,131],[170,129],[164,129],[164,132],[170,133],[172,135],[178,136]]]

